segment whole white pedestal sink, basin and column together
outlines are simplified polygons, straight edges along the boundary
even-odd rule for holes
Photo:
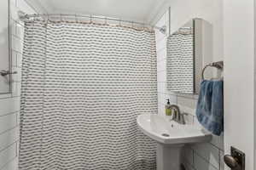
[[[180,170],[180,155],[184,144],[208,142],[212,139],[200,126],[179,124],[168,116],[140,115],[137,125],[157,142],[157,170]]]

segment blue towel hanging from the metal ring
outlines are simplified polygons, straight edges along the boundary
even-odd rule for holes
[[[203,81],[196,116],[203,127],[215,135],[224,131],[223,81]]]

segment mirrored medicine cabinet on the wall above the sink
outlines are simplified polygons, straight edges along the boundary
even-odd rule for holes
[[[201,71],[212,61],[212,26],[189,20],[167,38],[167,89],[178,94],[199,94]],[[206,72],[206,77],[212,72]]]

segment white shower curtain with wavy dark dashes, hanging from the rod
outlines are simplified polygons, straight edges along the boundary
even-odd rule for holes
[[[155,169],[137,116],[157,113],[154,32],[26,22],[20,170]]]

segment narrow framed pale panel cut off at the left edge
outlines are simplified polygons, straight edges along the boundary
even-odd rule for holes
[[[9,52],[9,0],[1,0],[0,6],[0,71],[10,71],[10,52]],[[1,76],[0,74],[0,94],[10,93],[10,75]]]

